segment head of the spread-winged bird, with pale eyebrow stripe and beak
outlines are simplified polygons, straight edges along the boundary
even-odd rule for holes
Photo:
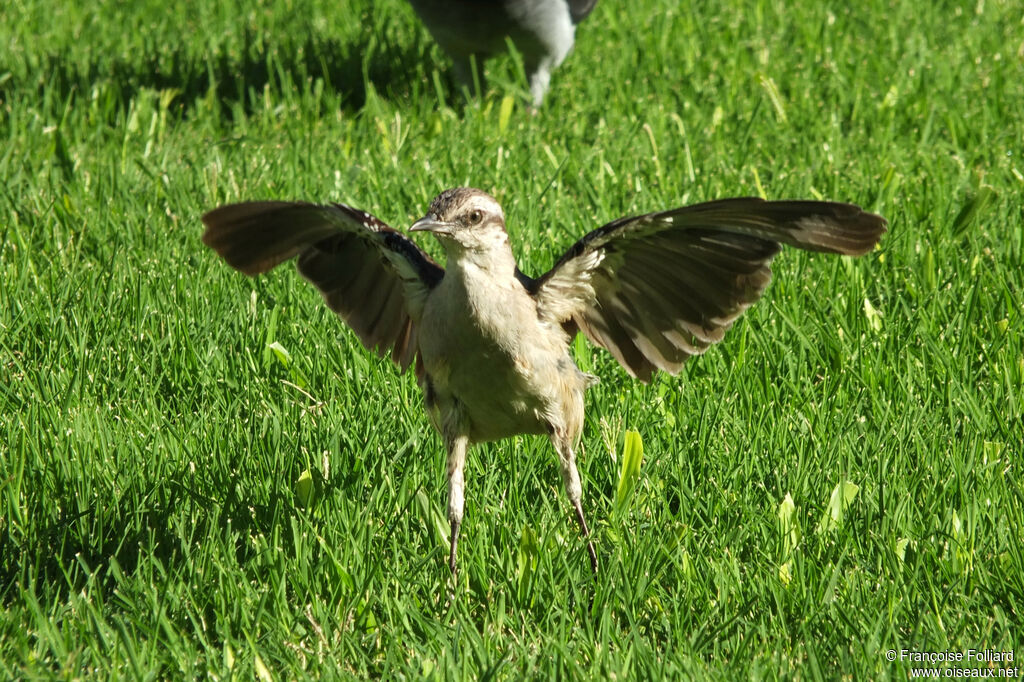
[[[410,231],[432,232],[450,258],[509,252],[505,213],[495,198],[471,187],[445,189]]]

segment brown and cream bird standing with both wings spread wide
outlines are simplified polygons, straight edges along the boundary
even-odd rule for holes
[[[203,222],[203,242],[248,275],[297,257],[367,348],[415,368],[447,456],[453,574],[467,452],[518,434],[553,444],[597,573],[575,463],[597,379],[573,361],[578,334],[640,381],[678,374],[761,297],[782,245],[859,256],[888,225],[853,204],[723,199],[612,220],[532,278],[516,264],[501,205],[470,187],[434,198],[410,236],[344,204],[228,204]],[[412,241],[420,232],[440,243],[443,267]]]

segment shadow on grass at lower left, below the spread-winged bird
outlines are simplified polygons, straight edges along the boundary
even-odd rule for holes
[[[147,491],[130,486],[105,504],[102,495],[95,496],[88,506],[78,502],[76,486],[69,483],[68,494],[52,501],[57,514],[40,511],[36,516],[46,518],[26,526],[30,531],[20,538],[0,534],[0,606],[16,603],[24,590],[53,604],[90,583],[113,594],[119,573],[131,577],[154,567],[177,573],[197,560],[193,555],[205,552],[201,544],[210,539],[220,539],[226,557],[243,572],[253,570],[256,555],[264,551],[252,542],[255,536],[276,537],[291,551],[291,534],[278,532],[295,514],[287,485],[271,486],[266,502],[255,502],[230,469],[214,467],[208,473],[219,480],[197,486],[193,474],[183,470]],[[338,476],[324,484],[321,495],[348,489],[357,479]],[[210,498],[197,487],[223,495]]]

